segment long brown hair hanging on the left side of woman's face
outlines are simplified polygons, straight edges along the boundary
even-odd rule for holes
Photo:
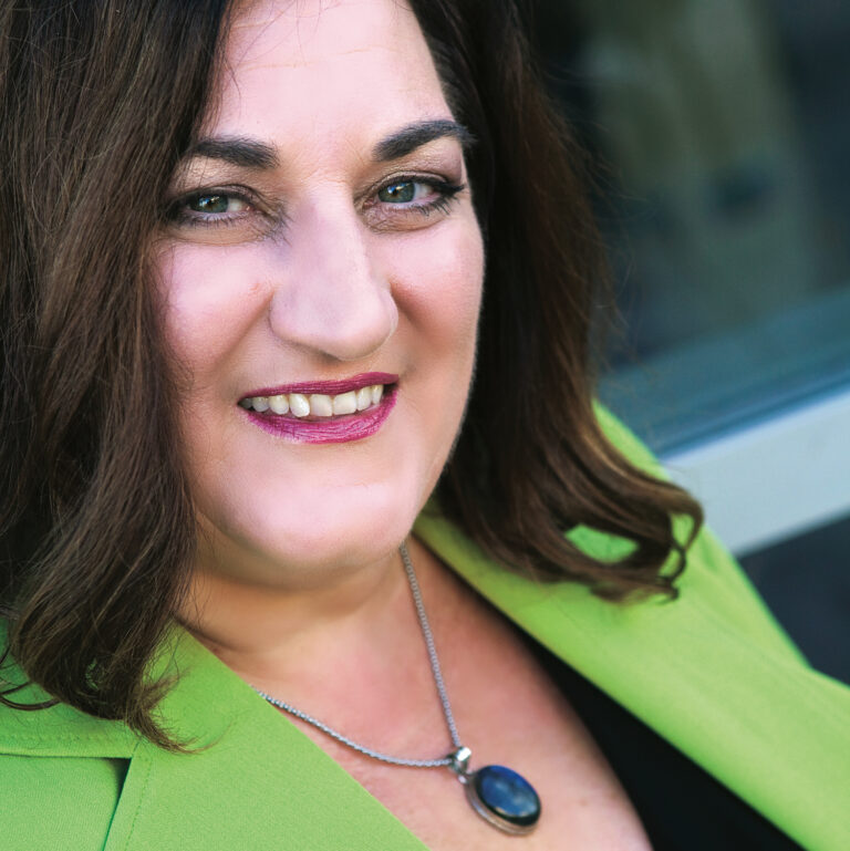
[[[162,689],[144,671],[186,582],[194,518],[145,256],[224,13],[224,0],[0,12],[9,646],[53,698],[159,744]]]

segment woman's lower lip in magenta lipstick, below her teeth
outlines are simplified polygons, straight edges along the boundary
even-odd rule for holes
[[[371,437],[384,424],[395,406],[396,388],[385,388],[381,402],[366,411],[319,419],[298,419],[286,414],[256,411],[242,413],[257,426],[274,437],[299,444],[344,444]]]

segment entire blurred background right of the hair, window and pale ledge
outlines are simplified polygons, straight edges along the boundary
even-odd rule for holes
[[[850,3],[538,0],[623,331],[603,401],[850,682]]]

